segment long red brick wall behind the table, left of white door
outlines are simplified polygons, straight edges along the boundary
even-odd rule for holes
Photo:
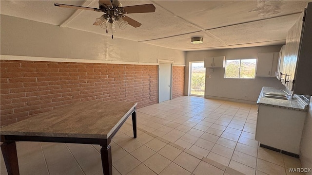
[[[79,101],[158,103],[158,67],[0,60],[1,126]]]

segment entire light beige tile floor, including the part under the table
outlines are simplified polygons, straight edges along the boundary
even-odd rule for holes
[[[254,140],[255,105],[178,97],[137,110],[112,139],[114,175],[289,175],[300,160]],[[98,145],[18,142],[21,175],[102,174]],[[1,175],[6,175],[1,155]]]

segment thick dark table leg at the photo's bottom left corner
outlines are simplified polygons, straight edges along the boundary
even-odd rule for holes
[[[18,155],[15,141],[8,141],[1,144],[1,151],[4,158],[6,170],[9,175],[20,175]]]

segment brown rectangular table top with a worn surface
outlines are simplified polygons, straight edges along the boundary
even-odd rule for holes
[[[0,134],[107,139],[136,106],[133,102],[78,102],[4,126]]]

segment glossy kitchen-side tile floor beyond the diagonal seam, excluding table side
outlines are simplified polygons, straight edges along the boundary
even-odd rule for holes
[[[138,116],[138,127],[244,174],[301,167],[297,158],[258,147],[256,105],[183,96],[138,109]]]

